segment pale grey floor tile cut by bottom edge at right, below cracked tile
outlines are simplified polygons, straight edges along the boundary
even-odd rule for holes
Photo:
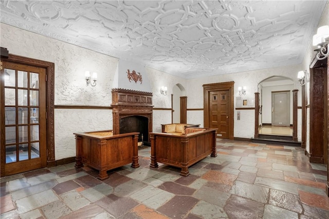
[[[278,219],[278,218],[298,219],[298,213],[283,208],[279,208],[273,205],[265,205],[263,218],[264,219]]]

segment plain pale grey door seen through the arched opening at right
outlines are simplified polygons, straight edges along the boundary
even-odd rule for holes
[[[290,91],[272,92],[272,126],[290,126]]]

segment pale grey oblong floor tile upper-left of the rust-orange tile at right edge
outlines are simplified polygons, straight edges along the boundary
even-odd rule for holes
[[[256,177],[255,185],[268,187],[270,189],[277,189],[284,192],[289,192],[293,194],[298,194],[297,185],[294,183],[288,183],[278,180],[272,180],[264,177]]]

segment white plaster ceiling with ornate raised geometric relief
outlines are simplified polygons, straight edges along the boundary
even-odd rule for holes
[[[327,1],[1,1],[1,22],[184,78],[295,65]]]

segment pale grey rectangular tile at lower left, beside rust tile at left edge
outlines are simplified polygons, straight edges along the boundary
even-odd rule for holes
[[[53,193],[52,190],[46,190],[38,194],[33,194],[21,198],[20,200],[16,200],[17,212],[19,212],[19,214],[26,213],[57,200],[58,197]]]

